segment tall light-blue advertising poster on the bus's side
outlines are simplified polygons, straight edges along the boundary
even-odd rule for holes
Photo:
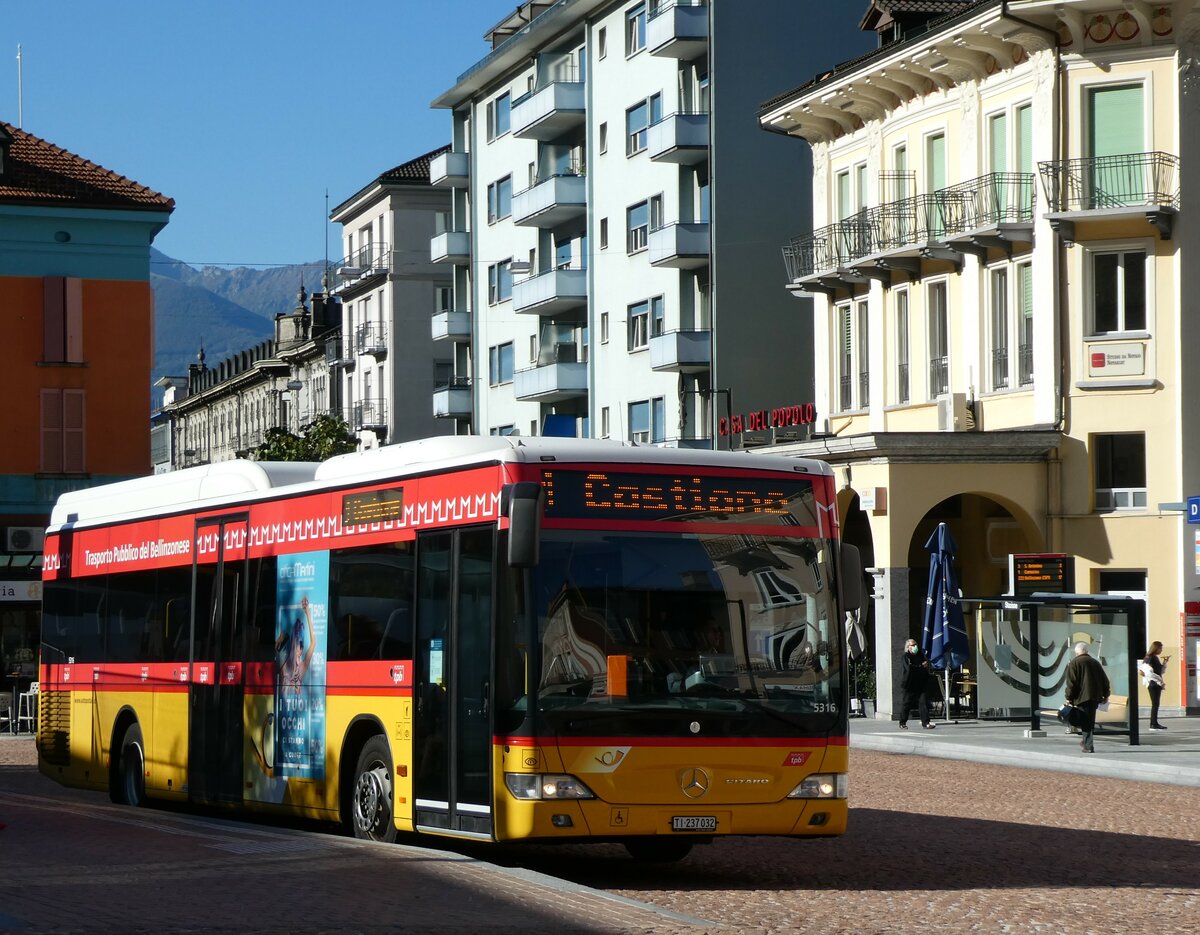
[[[280,559],[275,607],[275,774],[324,779],[329,552]]]

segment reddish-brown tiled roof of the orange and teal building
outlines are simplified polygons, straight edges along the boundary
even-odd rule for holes
[[[172,211],[175,199],[0,121],[12,137],[0,202]]]

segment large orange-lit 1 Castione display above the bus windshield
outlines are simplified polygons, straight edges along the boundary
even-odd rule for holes
[[[812,522],[812,481],[805,478],[544,471],[542,486],[547,517]]]

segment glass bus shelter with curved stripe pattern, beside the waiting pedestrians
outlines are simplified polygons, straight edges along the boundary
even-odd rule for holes
[[[964,678],[980,720],[1024,720],[1040,731],[1066,703],[1075,645],[1104,666],[1111,694],[1097,732],[1138,739],[1138,663],[1146,647],[1146,603],[1114,594],[961,598],[973,612],[974,672]]]

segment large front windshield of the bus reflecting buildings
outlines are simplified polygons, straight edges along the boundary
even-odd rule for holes
[[[842,684],[830,573],[827,543],[804,537],[545,531],[539,711],[560,733],[642,733],[664,711],[828,731]]]

